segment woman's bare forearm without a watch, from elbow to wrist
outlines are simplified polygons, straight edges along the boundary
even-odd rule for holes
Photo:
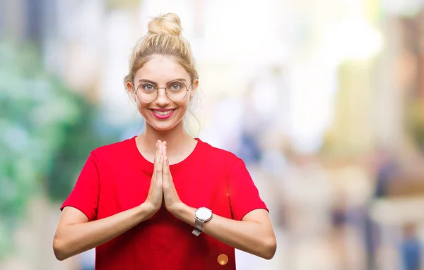
[[[151,211],[141,204],[105,219],[63,226],[54,235],[54,254],[59,260],[80,254],[116,238],[150,216]]]

